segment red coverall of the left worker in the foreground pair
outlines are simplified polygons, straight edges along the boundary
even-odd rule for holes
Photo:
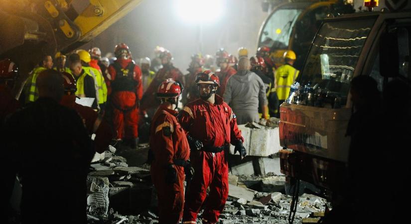
[[[154,154],[151,179],[157,189],[160,224],[178,224],[183,215],[184,168],[174,165],[177,171],[176,183],[165,182],[167,165],[173,164],[174,159],[186,161],[190,155],[185,132],[176,115],[176,111],[160,105],[151,122],[150,147]]]

